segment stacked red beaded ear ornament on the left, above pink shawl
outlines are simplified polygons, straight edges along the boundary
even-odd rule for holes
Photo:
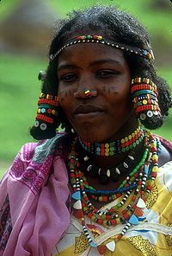
[[[52,138],[58,124],[58,96],[41,93],[31,135],[36,139]]]

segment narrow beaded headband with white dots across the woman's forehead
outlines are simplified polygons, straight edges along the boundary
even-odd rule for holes
[[[58,54],[60,54],[64,50],[64,48],[70,47],[71,45],[74,45],[77,43],[83,43],[83,42],[101,43],[114,48],[119,48],[121,50],[126,50],[126,52],[129,52],[132,54],[138,54],[148,60],[151,60],[151,59],[154,60],[154,55],[151,49],[148,50],[148,49],[141,49],[137,47],[127,46],[126,44],[123,44],[120,42],[114,42],[110,39],[103,38],[101,35],[79,35],[77,37],[72,38],[69,42],[64,44],[64,46],[60,48],[57,53],[51,54],[50,61],[53,61],[58,56]],[[148,48],[149,48],[149,44],[148,44]]]

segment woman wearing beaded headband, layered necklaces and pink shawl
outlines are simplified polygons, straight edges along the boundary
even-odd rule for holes
[[[171,255],[171,99],[150,39],[113,7],[52,39],[31,134],[1,183],[0,255]],[[64,132],[56,134],[57,127]]]

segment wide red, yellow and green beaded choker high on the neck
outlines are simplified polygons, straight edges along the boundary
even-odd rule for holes
[[[133,131],[125,138],[116,139],[110,143],[95,143],[90,144],[79,138],[80,144],[84,150],[87,150],[90,154],[102,157],[113,157],[116,154],[124,153],[129,150],[133,150],[144,138],[144,130],[138,125],[137,130]]]

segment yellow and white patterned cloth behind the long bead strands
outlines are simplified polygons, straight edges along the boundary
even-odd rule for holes
[[[171,256],[172,255],[172,161],[159,169],[155,186],[146,202],[144,215],[139,218],[139,224],[128,229],[126,235],[116,243],[116,249],[105,256]],[[116,201],[117,202],[117,201]],[[116,204],[116,202],[113,202]],[[107,204],[101,210],[112,207]],[[114,240],[115,234],[120,234],[122,225],[105,228],[86,219],[87,225],[101,227],[103,233],[95,236],[98,245],[106,245]],[[52,252],[52,256],[65,255],[100,255],[97,249],[90,247],[83,235],[83,227],[74,216],[68,231]]]

